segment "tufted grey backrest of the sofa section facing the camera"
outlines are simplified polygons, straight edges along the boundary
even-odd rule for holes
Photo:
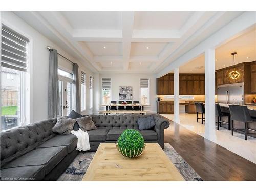
[[[97,129],[138,129],[138,118],[156,115],[92,115]]]

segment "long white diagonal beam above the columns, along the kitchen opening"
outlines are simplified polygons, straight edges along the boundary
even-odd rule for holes
[[[184,65],[184,63],[204,53],[205,50],[223,45],[254,27],[256,27],[256,12],[244,12],[199,45],[170,63],[157,73],[157,77],[161,77],[174,68]]]

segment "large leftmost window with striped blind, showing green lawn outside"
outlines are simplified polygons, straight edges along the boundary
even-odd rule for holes
[[[29,39],[2,27],[1,41],[1,130],[29,123]]]

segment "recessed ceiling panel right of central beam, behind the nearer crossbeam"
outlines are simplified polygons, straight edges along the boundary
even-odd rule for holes
[[[131,45],[131,56],[158,56],[166,45],[166,43],[160,42],[133,42]]]

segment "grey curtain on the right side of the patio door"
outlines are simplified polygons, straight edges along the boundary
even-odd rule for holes
[[[73,65],[73,103],[72,108],[77,112],[81,113],[81,104],[80,104],[80,92],[79,92],[79,72],[78,65],[74,63]]]

